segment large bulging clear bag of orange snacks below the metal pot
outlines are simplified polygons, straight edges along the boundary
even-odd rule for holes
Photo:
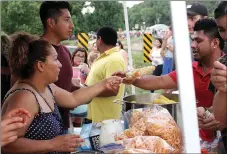
[[[129,119],[130,128],[116,135],[116,141],[135,136],[159,136],[174,148],[174,153],[182,152],[181,130],[167,109],[154,105],[150,108],[128,111],[125,116]]]

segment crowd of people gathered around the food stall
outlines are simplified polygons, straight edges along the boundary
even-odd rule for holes
[[[39,12],[41,36],[1,34],[3,153],[74,152],[83,139],[68,134],[70,110],[88,104],[85,124],[119,119],[122,106],[113,101],[123,98],[124,84],[152,92],[177,89],[171,26],[163,38],[155,40],[150,54],[156,66],[153,75],[127,80],[127,52],[113,28],[97,31],[90,53],[77,48],[71,55],[61,45],[74,28],[70,12],[66,1],[45,1]],[[187,7],[200,137],[212,141],[214,132],[221,130],[227,147],[227,2],[219,3],[215,19],[207,12],[200,3]],[[201,108],[213,114],[204,119],[199,114]]]

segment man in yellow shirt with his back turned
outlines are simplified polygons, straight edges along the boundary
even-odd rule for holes
[[[116,71],[124,71],[126,66],[119,52],[117,32],[111,27],[102,27],[97,32],[96,45],[100,56],[93,63],[86,84],[92,86],[97,82],[110,77]],[[100,122],[107,119],[118,119],[121,116],[122,106],[113,103],[115,99],[122,99],[124,85],[118,93],[109,91],[93,98],[88,105],[87,121]],[[86,122],[85,122],[86,123]]]

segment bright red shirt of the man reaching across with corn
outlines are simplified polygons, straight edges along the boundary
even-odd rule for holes
[[[201,65],[198,62],[193,62],[193,77],[194,77],[194,86],[195,86],[195,96],[198,101],[197,107],[211,107],[213,104],[214,94],[209,90],[211,70],[208,73],[204,73]],[[170,72],[169,76],[172,80],[177,83],[177,73],[176,71]],[[211,141],[214,139],[214,132],[211,130],[202,130],[199,131],[200,137],[203,140]]]

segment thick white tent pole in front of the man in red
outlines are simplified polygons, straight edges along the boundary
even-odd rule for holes
[[[185,1],[171,1],[170,4],[175,41],[180,106],[183,119],[185,152],[200,153],[186,3]]]

